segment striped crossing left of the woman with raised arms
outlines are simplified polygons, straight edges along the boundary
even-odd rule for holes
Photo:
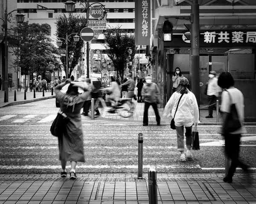
[[[56,118],[57,114],[52,115],[3,115],[0,116],[0,124],[4,122],[12,124],[24,124],[27,122],[49,123]]]

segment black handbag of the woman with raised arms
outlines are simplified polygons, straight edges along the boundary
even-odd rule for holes
[[[70,119],[64,112],[58,112],[57,117],[52,122],[52,126],[50,128],[52,135],[61,137],[62,134],[66,131],[66,126],[69,121]]]

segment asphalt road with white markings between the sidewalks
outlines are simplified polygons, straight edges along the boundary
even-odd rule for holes
[[[58,141],[49,132],[58,112],[55,99],[0,108],[0,173],[58,173]],[[78,173],[137,173],[138,133],[143,133],[143,172],[223,173],[223,137],[219,126],[199,126],[200,150],[194,161],[179,161],[175,130],[167,125],[142,126],[91,121],[82,117],[85,163]],[[256,126],[246,126],[241,160],[256,172]],[[68,169],[69,170],[69,169]],[[237,170],[241,172],[241,170]]]

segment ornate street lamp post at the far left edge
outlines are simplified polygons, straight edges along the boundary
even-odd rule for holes
[[[12,12],[17,11],[17,9],[7,13],[7,0],[6,0],[6,8],[4,13],[3,20],[3,28],[5,29],[5,39],[4,39],[4,55],[5,55],[5,69],[3,69],[3,81],[4,81],[4,90],[6,91],[6,102],[9,101],[9,94],[8,94],[8,41],[7,41],[7,34],[8,34],[8,22],[11,22]],[[25,15],[17,13],[16,15],[17,23],[23,23],[25,20]]]

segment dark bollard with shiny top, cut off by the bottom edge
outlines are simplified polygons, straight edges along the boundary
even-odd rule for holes
[[[153,168],[148,170],[148,199],[149,204],[157,204],[157,172]]]

